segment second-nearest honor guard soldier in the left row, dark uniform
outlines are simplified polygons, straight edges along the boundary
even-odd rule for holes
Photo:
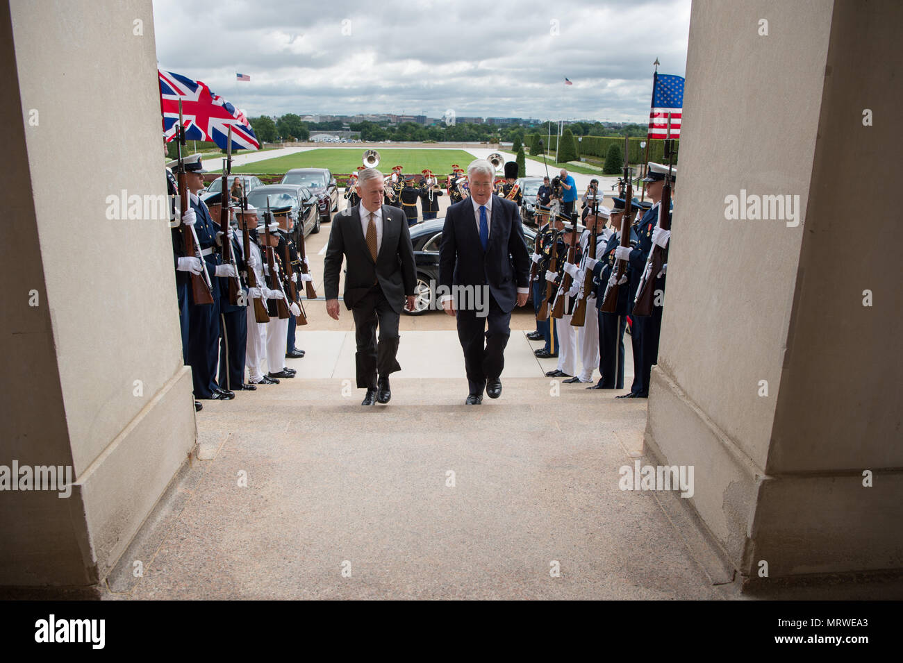
[[[240,198],[240,196],[239,196]],[[211,193],[203,198],[210,216],[219,220],[222,212],[222,194]],[[219,224],[218,224],[219,226]],[[224,232],[225,231],[225,234]],[[219,388],[226,391],[254,391],[253,384],[245,384],[245,358],[247,356],[247,287],[241,282],[240,272],[246,270],[241,245],[231,226],[220,228],[217,232],[217,244],[222,246],[228,242],[235,261],[237,274],[229,277],[237,280],[238,300],[229,301],[228,280],[220,283],[219,288]],[[221,256],[221,253],[220,253]]]

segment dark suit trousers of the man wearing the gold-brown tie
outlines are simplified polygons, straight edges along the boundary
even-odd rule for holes
[[[351,315],[358,346],[355,355],[358,389],[376,389],[377,373],[380,377],[388,377],[389,373],[401,370],[396,361],[400,316],[389,305],[378,283],[354,303]]]

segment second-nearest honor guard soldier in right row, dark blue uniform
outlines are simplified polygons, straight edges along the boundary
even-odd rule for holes
[[[634,201],[631,201],[631,205]],[[635,202],[639,202],[636,200]],[[620,228],[624,218],[626,201],[623,198],[614,199],[614,207],[611,208],[611,229],[614,231],[605,248],[597,253],[599,256],[595,264],[591,265],[593,282],[596,286],[596,306],[599,324],[599,382],[587,389],[623,389],[624,388],[624,330],[627,328],[627,317],[633,297],[636,294],[638,277],[628,264],[627,271],[621,278],[618,289],[618,301],[615,310],[604,313],[601,310],[602,299],[612,280],[615,266],[615,249],[620,245]],[[636,247],[638,242],[637,232],[634,226],[627,224],[630,233],[629,244]],[[589,262],[589,261],[588,261]],[[590,265],[588,264],[588,267]],[[612,281],[613,284],[614,281]],[[587,313],[589,315],[589,313]]]

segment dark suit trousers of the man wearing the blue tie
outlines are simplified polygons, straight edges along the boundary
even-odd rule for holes
[[[477,312],[475,308],[459,310],[456,318],[470,393],[482,394],[486,381],[498,380],[505,368],[505,346],[511,336],[511,312],[502,311],[491,294],[489,315],[480,318]]]

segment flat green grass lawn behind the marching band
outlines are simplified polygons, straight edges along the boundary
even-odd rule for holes
[[[433,170],[436,175],[447,175],[452,172],[452,163],[461,168],[473,161],[473,155],[463,150],[407,150],[405,148],[388,148],[378,150],[379,170],[388,174],[392,167],[405,167],[405,173],[420,173],[424,168]],[[307,152],[297,152],[284,157],[256,161],[247,166],[233,168],[232,172],[250,172],[255,174],[284,173],[292,168],[328,168],[332,174],[349,173],[358,170],[364,150],[359,147],[318,148]]]

